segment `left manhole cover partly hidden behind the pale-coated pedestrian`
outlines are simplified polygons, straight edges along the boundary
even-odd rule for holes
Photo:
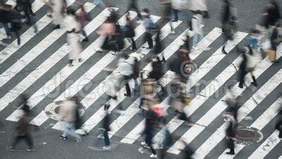
[[[60,100],[60,101],[56,101],[56,102],[51,102],[49,105],[47,105],[45,107],[45,114],[47,114],[48,117],[50,117],[51,119],[54,120],[58,120],[59,121],[59,117],[60,115],[59,113],[59,107],[61,105],[63,105],[63,102],[66,100]],[[80,113],[80,117],[82,116],[82,114],[84,114],[85,109],[84,107],[78,107],[79,113]]]

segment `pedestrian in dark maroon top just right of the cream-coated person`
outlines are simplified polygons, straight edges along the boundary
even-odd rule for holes
[[[80,23],[80,33],[85,37],[82,41],[88,42],[89,39],[87,37],[87,34],[86,34],[84,28],[85,28],[87,21],[89,21],[90,18],[88,16],[87,12],[85,11],[84,6],[81,6],[81,11],[79,13],[75,14],[75,18]]]

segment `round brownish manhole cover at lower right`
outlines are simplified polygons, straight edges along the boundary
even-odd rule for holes
[[[238,126],[235,131],[235,142],[242,145],[258,143],[264,138],[261,131],[250,126]]]

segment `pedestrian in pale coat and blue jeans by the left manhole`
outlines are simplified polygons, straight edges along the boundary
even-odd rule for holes
[[[78,118],[78,98],[71,98],[66,100],[59,107],[60,122],[63,124],[63,134],[61,139],[68,139],[69,136],[73,136],[77,143],[82,142],[79,134],[75,133],[75,122]]]

